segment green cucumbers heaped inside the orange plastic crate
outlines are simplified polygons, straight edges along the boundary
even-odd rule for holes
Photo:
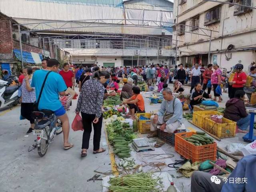
[[[202,146],[214,143],[214,139],[205,135],[205,132],[197,131],[196,134],[184,138],[195,146]]]

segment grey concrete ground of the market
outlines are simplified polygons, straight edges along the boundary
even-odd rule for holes
[[[172,84],[170,84],[172,88]],[[185,93],[189,92],[186,87]],[[228,100],[227,94],[223,94],[224,106]],[[72,101],[68,116],[70,126],[74,119],[77,100]],[[149,105],[149,99],[145,98],[146,112],[157,110],[160,104]],[[37,152],[28,152],[28,147],[34,144],[36,137],[33,134],[26,136],[29,128],[27,120],[19,120],[20,105],[12,110],[8,108],[0,111],[0,192],[101,192],[102,182],[87,182],[98,169],[101,172],[111,170],[108,146],[102,154],[92,154],[92,138],[88,156],[80,157],[82,145],[82,132],[74,132],[70,128],[70,142],[74,148],[65,151],[63,149],[63,135],[54,138],[44,157],[39,157]],[[184,119],[187,130],[200,130]],[[222,139],[218,146],[225,147],[230,143],[244,143],[242,136],[237,134],[235,138]],[[102,128],[101,143],[106,142],[104,128]],[[174,154],[174,160],[180,160],[180,155],[174,151],[174,147],[164,144],[162,149],[166,153]],[[176,178],[176,171],[169,171],[174,176],[173,180],[182,192],[190,191],[190,178]]]

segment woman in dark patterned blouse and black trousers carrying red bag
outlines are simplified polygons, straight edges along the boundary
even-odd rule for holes
[[[78,98],[76,114],[81,112],[84,126],[81,156],[87,156],[89,148],[90,134],[92,124],[94,128],[93,136],[93,154],[104,152],[106,149],[100,148],[100,137],[102,128],[102,104],[104,95],[104,86],[102,84],[110,78],[107,71],[97,71],[94,78],[87,80],[82,86]]]

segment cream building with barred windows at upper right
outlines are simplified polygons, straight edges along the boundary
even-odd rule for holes
[[[256,0],[234,0],[236,4],[255,6]],[[177,9],[178,8],[178,9]],[[256,60],[256,10],[238,5],[208,1],[174,1],[175,22],[187,26],[177,26],[173,39],[178,34],[178,63],[217,63],[230,70],[241,62],[244,68]],[[191,27],[192,26],[192,27]],[[200,28],[212,32],[210,62],[208,62],[209,40],[199,35]],[[193,34],[192,34],[193,33]],[[202,33],[202,32],[201,32]],[[206,32],[207,35],[210,31]]]

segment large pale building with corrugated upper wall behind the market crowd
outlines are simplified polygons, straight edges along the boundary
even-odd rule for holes
[[[66,35],[62,40],[55,42],[50,40],[49,44],[69,52],[74,64],[102,66],[106,63],[114,63],[114,66],[120,66],[156,64],[164,61],[163,64],[170,65],[172,61],[170,22],[173,22],[173,3],[168,0],[2,0],[0,6],[5,14],[20,23],[51,22],[47,25],[26,26],[35,30],[45,29],[38,32],[43,37]],[[37,11],[31,12],[31,10]],[[98,20],[94,22],[93,19]],[[72,24],[61,22],[66,20],[80,21]],[[127,26],[131,23],[142,27]],[[84,24],[89,26],[81,27]],[[71,25],[79,28],[69,28]],[[66,28],[49,30],[49,26]],[[95,35],[86,40],[72,36],[98,33],[138,36],[103,39]],[[143,35],[154,36],[156,40],[143,42]],[[152,42],[153,45],[150,44]]]

